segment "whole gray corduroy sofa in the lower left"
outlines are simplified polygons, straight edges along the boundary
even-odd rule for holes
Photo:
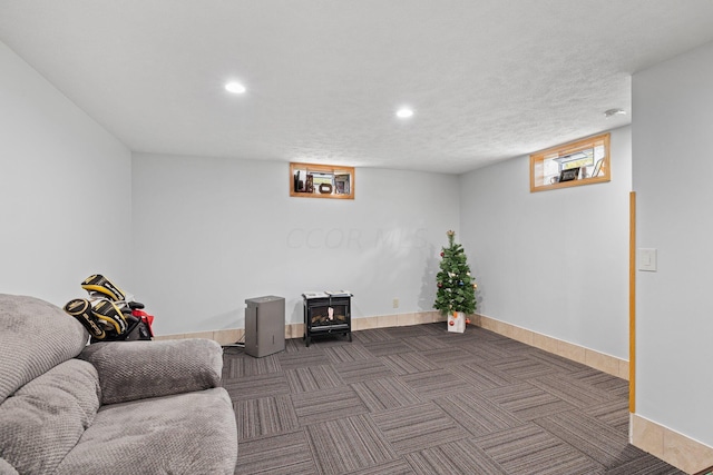
[[[0,475],[234,473],[215,342],[88,339],[62,309],[0,294]]]

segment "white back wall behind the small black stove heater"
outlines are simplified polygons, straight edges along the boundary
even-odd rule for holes
[[[457,177],[358,168],[354,200],[292,198],[289,178],[286,162],[135,154],[135,294],[157,334],[242,328],[263,295],[301,323],[310,290],[351,290],[354,318],[432,309]]]

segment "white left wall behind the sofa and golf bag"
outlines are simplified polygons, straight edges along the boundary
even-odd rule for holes
[[[0,291],[130,286],[130,152],[0,42]]]

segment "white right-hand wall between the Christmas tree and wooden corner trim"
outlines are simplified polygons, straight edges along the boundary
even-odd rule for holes
[[[631,129],[612,130],[612,181],[530,192],[529,156],[461,176],[478,313],[628,359]]]

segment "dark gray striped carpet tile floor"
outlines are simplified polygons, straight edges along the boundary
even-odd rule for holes
[[[225,348],[237,474],[683,474],[627,444],[628,383],[446,324]]]

